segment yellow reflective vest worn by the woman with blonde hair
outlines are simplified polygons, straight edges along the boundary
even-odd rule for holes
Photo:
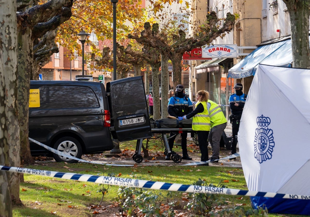
[[[211,125],[207,102],[199,102],[196,106],[200,103],[203,105],[204,110],[193,117],[192,129],[194,131],[210,131]]]

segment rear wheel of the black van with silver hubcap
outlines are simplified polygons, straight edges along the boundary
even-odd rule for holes
[[[72,157],[81,158],[82,157],[82,147],[77,139],[73,137],[66,136],[58,139],[54,144],[54,149],[57,151],[63,152],[66,155],[70,155]],[[64,157],[54,153],[54,158],[57,162],[68,162],[68,163],[76,163],[78,160],[73,160],[69,157]]]

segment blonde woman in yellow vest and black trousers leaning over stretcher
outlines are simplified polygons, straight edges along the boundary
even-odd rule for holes
[[[193,117],[192,129],[197,131],[198,143],[201,152],[201,161],[208,161],[208,135],[211,128],[209,112],[207,108],[207,102],[209,99],[209,92],[198,91],[196,95],[196,108],[183,117],[179,117],[179,120],[189,119]],[[209,166],[209,164],[203,164]]]

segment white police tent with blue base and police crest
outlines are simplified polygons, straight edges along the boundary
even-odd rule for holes
[[[309,200],[255,196],[253,207],[310,215],[309,141],[310,70],[259,64],[238,132],[246,184],[250,191]]]

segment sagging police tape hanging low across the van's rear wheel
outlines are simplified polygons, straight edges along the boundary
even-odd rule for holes
[[[85,163],[93,163],[93,164],[101,164],[101,165],[107,165],[107,166],[135,166],[135,165],[129,165],[129,164],[112,164],[112,163],[99,163],[99,162],[93,162],[93,161],[85,161],[85,160],[82,160],[80,158],[77,158],[77,157],[73,157],[71,155],[68,155],[68,154],[65,154],[63,152],[60,152],[58,150],[56,150],[55,148],[51,148],[41,142],[38,142],[34,139],[31,139],[29,138],[30,141],[42,146],[43,148],[46,148],[47,150],[51,151],[52,153],[55,153],[55,154],[58,154],[60,156],[64,156],[64,157],[68,157],[70,159],[73,159],[73,160],[77,160],[77,161],[82,161],[82,162],[85,162]],[[220,158],[218,159],[218,161],[222,161],[222,160],[226,160],[226,159],[229,159],[229,158],[234,158],[234,157],[239,157],[240,154],[239,153],[235,153],[235,154],[232,154],[232,155],[229,155],[227,157],[223,157],[223,158]],[[188,163],[188,164],[178,164],[178,166],[195,166],[195,165],[204,165],[204,164],[208,164],[208,163],[212,163],[214,162],[214,160],[211,160],[211,161],[200,161],[200,162],[193,162],[193,163]],[[165,165],[166,166],[166,165]]]

